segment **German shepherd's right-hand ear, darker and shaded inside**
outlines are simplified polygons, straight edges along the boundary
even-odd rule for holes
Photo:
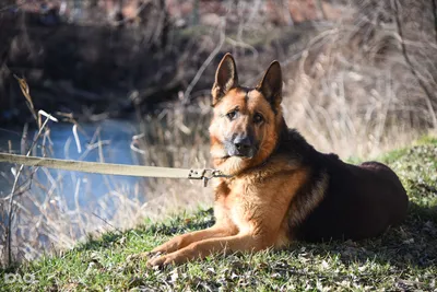
[[[282,102],[282,72],[279,61],[273,61],[258,84],[260,91],[273,108],[279,108]]]

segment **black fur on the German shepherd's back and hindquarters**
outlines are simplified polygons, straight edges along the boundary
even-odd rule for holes
[[[288,212],[292,237],[305,241],[362,240],[374,237],[389,226],[398,225],[406,215],[408,196],[398,176],[378,162],[361,165],[344,163],[334,154],[316,151],[295,130],[283,138],[282,151],[291,160],[298,160],[302,167],[310,168],[306,186],[292,202]],[[315,188],[322,198],[318,205],[296,224],[293,211],[305,208],[311,201]],[[317,190],[321,191],[321,190]]]

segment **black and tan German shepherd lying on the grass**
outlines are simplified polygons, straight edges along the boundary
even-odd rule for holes
[[[398,225],[409,199],[378,162],[344,163],[315,150],[282,115],[282,72],[273,61],[253,87],[238,84],[234,58],[218,65],[209,128],[215,178],[215,224],[156,247],[150,266],[221,252],[285,247],[292,241],[363,240]]]

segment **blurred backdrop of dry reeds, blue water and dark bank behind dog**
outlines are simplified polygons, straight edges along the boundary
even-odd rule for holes
[[[1,0],[0,151],[210,166],[226,52],[247,86],[281,62],[288,126],[320,151],[371,159],[437,129],[435,0]],[[0,256],[211,202],[198,182],[2,164]]]

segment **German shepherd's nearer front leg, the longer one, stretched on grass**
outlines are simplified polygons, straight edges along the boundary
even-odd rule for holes
[[[182,264],[196,258],[204,258],[208,255],[220,252],[258,252],[271,246],[269,241],[261,237],[256,237],[252,234],[237,234],[233,236],[210,238],[201,242],[196,242],[189,246],[164,255],[157,258],[152,258],[147,261],[149,266],[162,266],[168,264]]]

